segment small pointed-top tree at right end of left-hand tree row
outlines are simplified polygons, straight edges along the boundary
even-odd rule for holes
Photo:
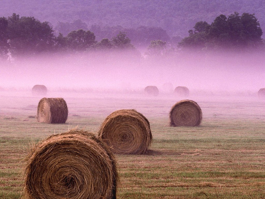
[[[113,46],[117,49],[134,49],[134,46],[131,44],[131,40],[126,37],[125,32],[120,32],[116,37],[112,37],[111,41]]]

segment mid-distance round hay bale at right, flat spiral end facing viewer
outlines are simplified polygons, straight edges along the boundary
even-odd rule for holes
[[[192,100],[181,100],[170,110],[170,126],[200,126],[202,111],[200,106]]]

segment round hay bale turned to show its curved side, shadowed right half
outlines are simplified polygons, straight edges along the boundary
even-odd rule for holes
[[[67,104],[63,98],[42,98],[38,104],[38,122],[65,123],[68,116]]]

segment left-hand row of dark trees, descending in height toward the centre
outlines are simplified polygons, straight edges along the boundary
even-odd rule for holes
[[[78,52],[87,49],[134,49],[126,33],[119,32],[110,40],[97,42],[93,32],[84,29],[71,31],[67,36],[54,35],[50,24],[34,17],[13,14],[0,18],[0,57],[20,57],[45,52]]]

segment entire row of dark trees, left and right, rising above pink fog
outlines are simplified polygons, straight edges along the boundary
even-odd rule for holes
[[[94,27],[96,28],[98,32],[104,32],[100,27]],[[178,46],[160,39],[150,41],[149,37],[149,46],[145,55],[165,55],[181,49],[237,50],[264,47],[261,38],[262,29],[254,14],[239,15],[238,12],[234,12],[228,17],[219,15],[211,24],[198,21],[193,28],[194,30],[189,30],[189,36],[183,38]],[[139,27],[139,29],[142,29],[144,34],[148,34],[147,27]],[[118,32],[116,36],[110,39],[102,38],[99,42],[96,41],[94,32],[85,29],[70,31],[65,36],[62,33],[55,36],[54,30],[47,21],[40,22],[34,17],[20,17],[14,13],[7,18],[0,18],[0,57],[7,59],[45,52],[74,53],[89,49],[136,50],[126,34],[126,32]],[[148,40],[148,36],[143,35],[143,37]]]

